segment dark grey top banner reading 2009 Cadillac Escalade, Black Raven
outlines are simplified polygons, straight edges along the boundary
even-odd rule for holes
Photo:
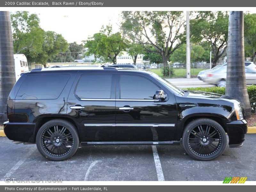
[[[1,7],[256,7],[252,0],[4,0]]]

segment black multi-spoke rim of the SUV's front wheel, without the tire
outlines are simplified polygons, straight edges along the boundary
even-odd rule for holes
[[[211,124],[196,125],[188,134],[188,146],[197,156],[212,156],[223,146],[222,135]]]

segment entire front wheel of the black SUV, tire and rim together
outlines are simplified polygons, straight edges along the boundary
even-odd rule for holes
[[[210,161],[223,154],[227,137],[219,123],[200,118],[188,123],[183,132],[182,144],[190,157]]]

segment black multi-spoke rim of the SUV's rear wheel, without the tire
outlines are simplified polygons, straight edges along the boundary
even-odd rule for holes
[[[52,156],[64,156],[74,146],[72,133],[62,125],[47,127],[42,135],[42,146]]]

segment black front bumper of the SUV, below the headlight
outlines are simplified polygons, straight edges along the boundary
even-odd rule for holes
[[[247,133],[247,121],[230,121],[227,122],[226,127],[229,138],[229,147],[242,147],[245,140],[245,134]]]

